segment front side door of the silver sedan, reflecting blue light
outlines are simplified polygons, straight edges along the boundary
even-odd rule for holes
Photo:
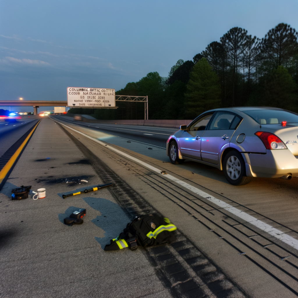
[[[213,113],[205,114],[193,122],[179,138],[180,152],[185,157],[201,160],[201,138]]]

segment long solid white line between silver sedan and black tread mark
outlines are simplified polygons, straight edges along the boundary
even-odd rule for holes
[[[133,162],[141,164],[142,166],[146,167],[147,169],[152,170],[153,172],[156,172],[158,174],[160,174],[160,172],[161,172],[161,170],[157,169],[156,167],[151,166],[150,164],[142,162],[141,160],[139,160],[139,159],[127,154],[127,153],[124,153],[124,152],[122,152],[122,151],[120,151],[116,148],[113,148],[109,145],[106,145],[105,143],[103,143],[103,142],[101,142],[97,139],[91,138],[91,136],[87,136],[86,134],[83,134],[82,132],[77,131],[77,130],[75,130],[75,129],[73,129],[73,128],[71,128],[71,127],[69,127],[69,126],[67,126],[63,123],[61,123],[61,124],[66,126],[69,129],[72,129],[73,131],[76,131],[77,133],[82,134],[83,136],[85,136],[85,137],[99,143],[100,145],[108,147],[110,150],[114,151],[115,153],[117,153],[117,154],[119,154],[119,155],[121,155],[121,156],[123,156],[127,159],[130,159]],[[196,193],[196,194],[200,195],[201,197],[203,197],[203,198],[207,199],[208,201],[212,202],[213,204],[225,209],[226,211],[231,212],[232,214],[234,214],[234,215],[238,216],[239,218],[243,219],[244,221],[256,226],[258,229],[260,229],[260,230],[274,236],[275,238],[283,241],[284,243],[286,243],[286,244],[288,244],[288,245],[290,245],[290,246],[292,246],[292,247],[294,247],[295,249],[298,250],[298,240],[291,237],[291,236],[289,236],[289,235],[287,235],[287,234],[285,234],[284,232],[282,232],[282,231],[280,231],[280,230],[278,230],[278,229],[264,223],[263,221],[260,221],[259,219],[253,217],[252,215],[249,215],[246,212],[241,211],[241,210],[233,207],[232,205],[230,205],[230,204],[228,204],[224,201],[221,201],[220,199],[217,199],[217,198],[213,197],[212,195],[209,195],[208,193],[205,193],[203,190],[200,190],[197,187],[194,187],[194,186],[188,184],[187,182],[182,181],[182,180],[180,180],[180,179],[178,179],[178,178],[176,178],[176,177],[174,177],[170,174],[164,175],[163,178],[167,178],[169,180],[172,180],[172,181],[176,182],[177,184],[180,184],[181,186],[183,186],[183,187],[187,188],[188,190],[192,191],[193,193]]]

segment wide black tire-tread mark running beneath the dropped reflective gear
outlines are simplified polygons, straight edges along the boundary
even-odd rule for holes
[[[109,190],[129,218],[133,219],[141,214],[159,213],[75,136],[62,125],[60,127],[89,159],[103,182],[114,184]],[[112,157],[110,151],[104,148],[103,151]],[[119,159],[118,163],[123,164],[125,161]],[[173,297],[247,297],[179,230],[176,232],[176,237],[176,242],[171,245],[144,249],[155,268],[156,275],[171,291]]]

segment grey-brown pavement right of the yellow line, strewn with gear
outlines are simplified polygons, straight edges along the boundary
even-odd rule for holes
[[[155,134],[175,130],[125,126],[117,136],[116,125],[67,118],[40,122],[0,192],[1,297],[298,296],[297,179],[235,187],[213,167],[171,164],[168,136]],[[45,187],[46,198],[11,201],[20,185]],[[84,223],[64,225],[78,208]],[[103,251],[153,212],[178,227],[174,243]]]

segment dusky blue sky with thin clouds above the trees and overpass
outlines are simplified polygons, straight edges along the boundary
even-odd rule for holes
[[[0,100],[167,77],[232,27],[262,38],[281,22],[298,30],[297,0],[0,0]]]

